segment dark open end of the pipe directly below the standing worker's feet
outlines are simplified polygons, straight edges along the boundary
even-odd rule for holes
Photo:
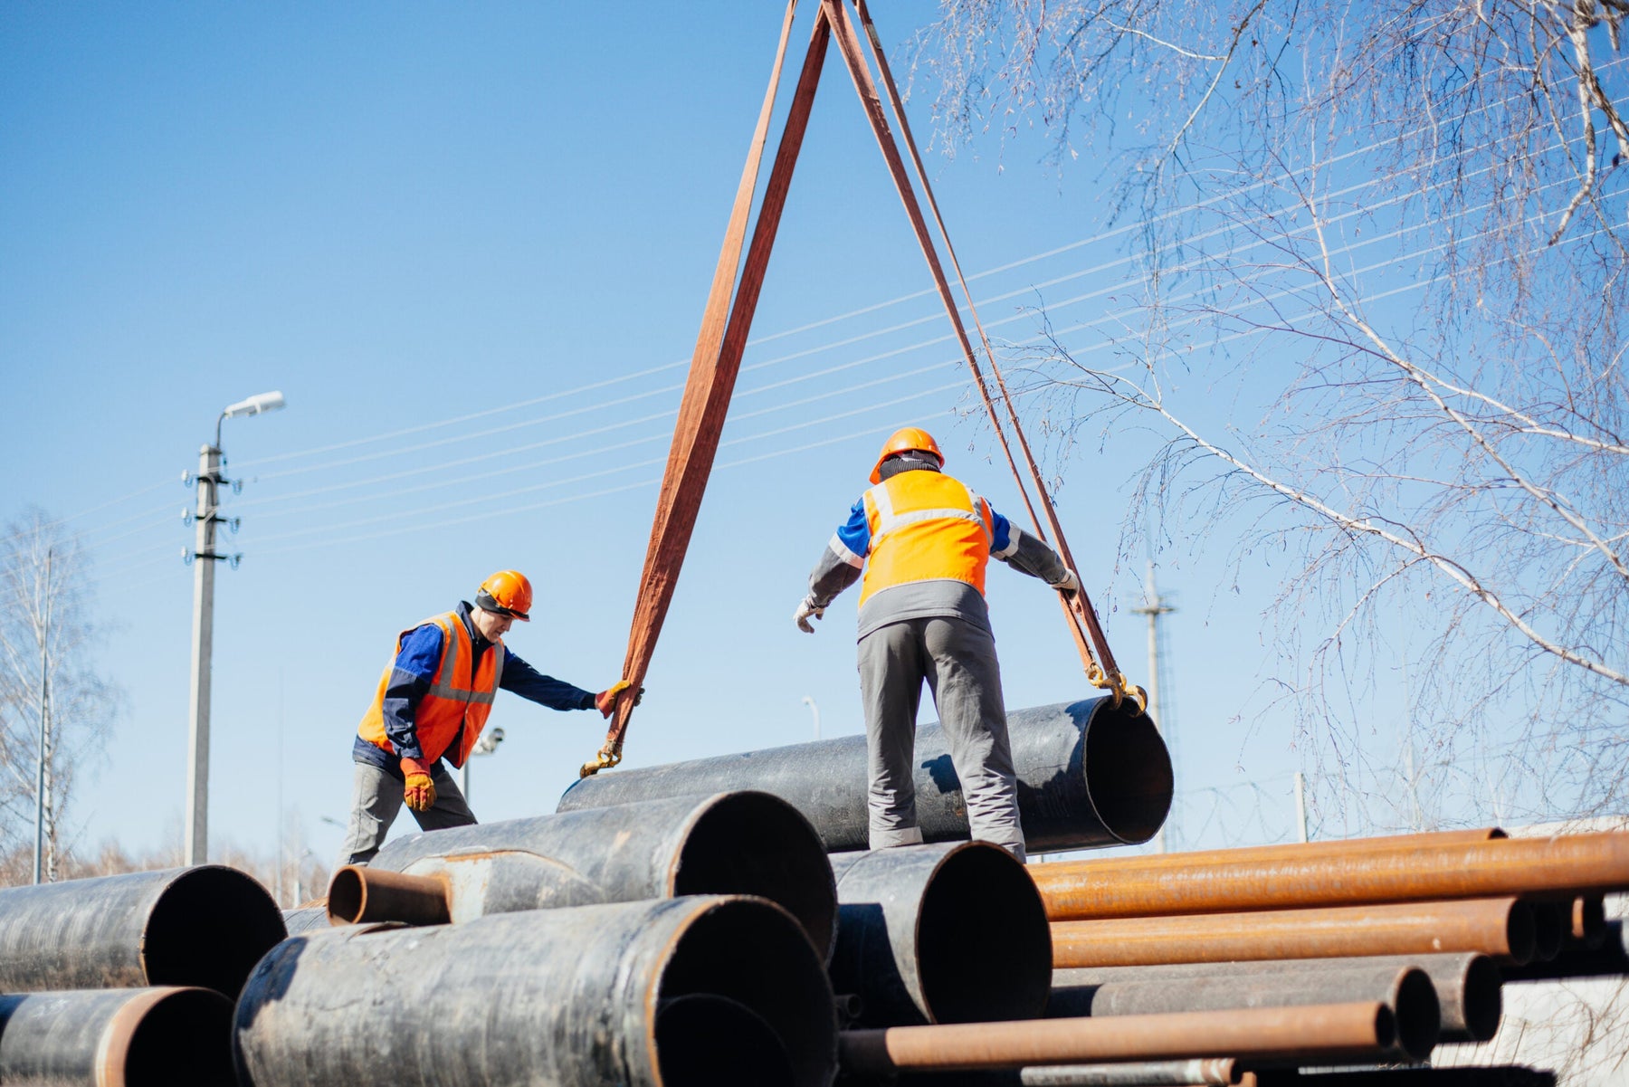
[[[917,968],[930,1022],[1036,1019],[1052,988],[1052,934],[1025,865],[1000,846],[946,854],[922,893]]]

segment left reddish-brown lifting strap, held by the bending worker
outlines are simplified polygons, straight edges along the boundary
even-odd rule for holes
[[[723,430],[730,394],[735,391],[735,378],[741,368],[741,354],[746,349],[753,313],[757,310],[757,295],[764,285],[764,271],[769,266],[775,230],[780,225],[787,191],[792,186],[792,169],[803,145],[803,132],[808,127],[810,108],[814,103],[814,90],[819,85],[819,72],[826,62],[826,46],[831,39],[824,11],[814,18],[814,33],[810,37],[808,54],[803,57],[797,93],[787,112],[785,130],[775,152],[775,163],[764,189],[764,204],[757,212],[757,223],[753,228],[743,267],[741,240],[746,233],[753,191],[757,184],[757,166],[767,140],[769,116],[775,103],[795,8],[797,0],[792,0],[787,5],[780,31],[774,75],[771,75],[769,91],[764,95],[757,129],[753,132],[753,145],[730,213],[730,227],[725,231],[723,249],[718,254],[718,267],[714,271],[712,288],[707,293],[696,354],[691,357],[691,375],[679,403],[679,420],[673,432],[668,468],[656,497],[656,515],[650,528],[650,543],[645,548],[645,569],[639,582],[639,600],[634,605],[627,657],[622,663],[622,678],[630,683],[630,689],[617,698],[616,715],[606,733],[604,746],[595,761],[583,766],[583,776],[621,761],[622,737],[627,733],[629,717],[634,711],[632,696],[650,668],[656,637],[661,634],[668,605],[673,601],[673,588],[678,583],[679,569],[684,566],[691,531],[696,528],[696,515],[700,510],[702,494],[707,491],[707,476],[712,473],[714,456],[718,451],[718,433]],[[736,287],[738,267],[741,267],[741,282]]]

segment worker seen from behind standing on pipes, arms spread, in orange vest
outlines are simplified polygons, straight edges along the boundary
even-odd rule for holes
[[[826,544],[792,618],[813,634],[810,619],[819,619],[837,593],[862,582],[860,701],[872,849],[922,841],[912,753],[925,681],[961,781],[973,838],[1023,859],[984,570],[995,557],[1064,593],[1077,592],[1080,579],[1052,548],[1008,523],[943,466],[933,435],[917,427],[896,430],[872,469],[875,486]]]

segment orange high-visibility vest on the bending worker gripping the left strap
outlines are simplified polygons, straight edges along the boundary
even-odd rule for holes
[[[446,755],[453,766],[463,766],[469,751],[481,738],[481,730],[487,727],[492,714],[492,696],[497,694],[498,678],[503,671],[503,642],[492,644],[490,652],[482,655],[481,670],[471,675],[471,658],[476,647],[464,627],[464,621],[456,611],[438,614],[407,627],[396,636],[396,652],[402,652],[402,640],[420,626],[435,624],[441,627],[441,660],[430,678],[430,689],[419,701],[414,714],[414,725],[419,730],[419,746],[424,750],[424,763],[433,763]],[[394,658],[384,667],[380,676],[380,689],[373,696],[373,706],[362,717],[357,735],[384,751],[396,753],[384,735],[384,691],[391,683]],[[448,751],[453,738],[459,735],[458,750]]]

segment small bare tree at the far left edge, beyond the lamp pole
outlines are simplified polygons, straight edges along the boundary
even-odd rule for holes
[[[90,658],[96,639],[78,541],[44,510],[11,521],[0,541],[0,843],[34,843],[44,795],[47,878],[60,875],[67,812],[86,756],[119,704]],[[36,787],[44,730],[44,794]]]

